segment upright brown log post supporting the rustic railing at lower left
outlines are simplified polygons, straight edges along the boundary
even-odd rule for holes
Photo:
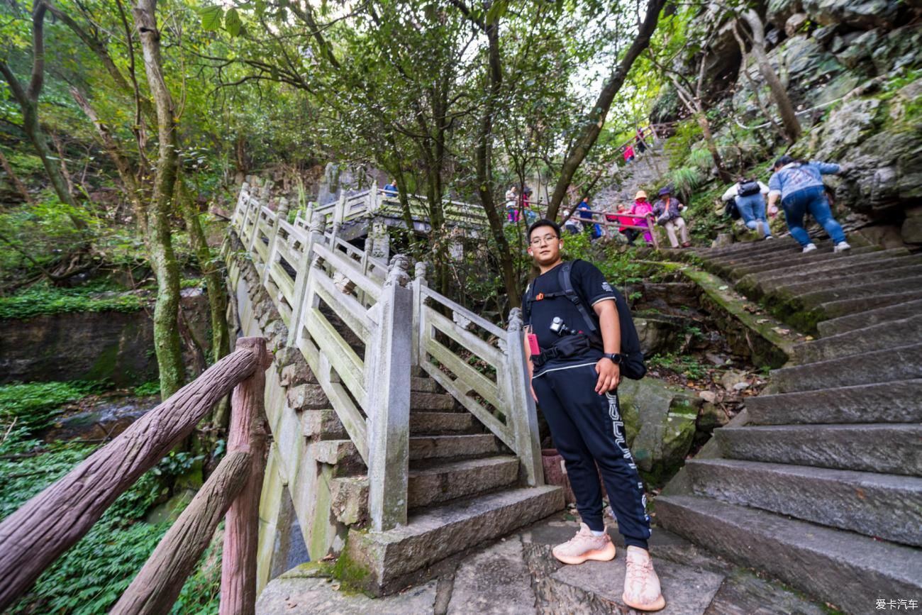
[[[231,398],[231,428],[228,454],[250,457],[246,484],[231,504],[224,531],[221,556],[221,615],[253,615],[256,609],[256,546],[259,541],[259,495],[266,472],[266,369],[272,355],[262,337],[243,337],[240,346],[262,357],[262,369],[238,384]]]

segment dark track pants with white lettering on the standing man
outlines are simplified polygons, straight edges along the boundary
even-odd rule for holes
[[[596,531],[605,529],[598,464],[625,544],[646,549],[650,517],[644,483],[624,438],[618,393],[598,395],[597,380],[592,362],[540,373],[531,383],[554,445],[566,463],[576,508],[585,525]]]

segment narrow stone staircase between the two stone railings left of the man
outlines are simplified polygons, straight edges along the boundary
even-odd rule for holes
[[[376,596],[563,508],[560,487],[523,487],[518,457],[434,380],[414,377],[412,388],[407,525],[351,529],[337,562],[340,579]]]

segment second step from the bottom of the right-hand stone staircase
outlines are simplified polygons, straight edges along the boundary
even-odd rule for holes
[[[737,459],[685,464],[697,495],[922,545],[922,479]]]

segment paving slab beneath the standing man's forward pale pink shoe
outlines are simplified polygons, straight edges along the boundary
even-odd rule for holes
[[[724,580],[722,574],[656,557],[654,567],[663,588],[663,597],[666,598],[666,608],[657,611],[663,615],[702,615]],[[616,557],[611,562],[563,566],[550,578],[554,582],[553,594],[561,601],[563,612],[634,615],[638,611],[621,601],[624,574],[624,558]],[[581,607],[584,605],[592,606],[583,610]],[[567,610],[568,606],[571,610]]]

